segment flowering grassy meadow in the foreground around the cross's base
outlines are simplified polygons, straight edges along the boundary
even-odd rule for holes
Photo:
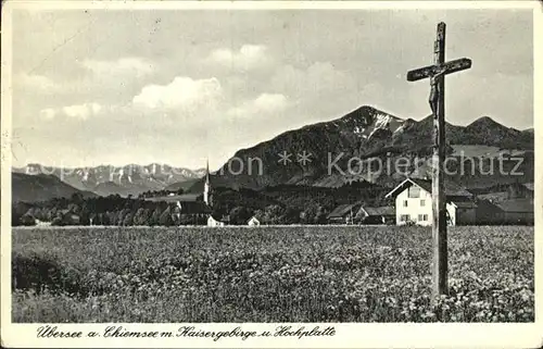
[[[14,322],[532,322],[533,227],[15,228]]]

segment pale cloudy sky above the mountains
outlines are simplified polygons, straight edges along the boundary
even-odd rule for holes
[[[430,114],[444,21],[446,120],[533,126],[531,10],[64,10],[13,14],[13,165],[213,169],[361,105]]]

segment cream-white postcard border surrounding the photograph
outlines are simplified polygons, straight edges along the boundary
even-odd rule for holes
[[[48,10],[270,10],[270,9],[531,9],[533,10],[533,64],[534,64],[534,129],[535,149],[543,147],[542,62],[543,62],[543,4],[541,1],[8,1],[2,4],[2,80],[1,80],[1,344],[5,347],[35,348],[536,348],[543,346],[542,289],[543,277],[535,277],[535,322],[528,324],[334,324],[336,336],[304,339],[265,338],[241,340],[223,338],[98,338],[98,339],[43,339],[36,337],[40,324],[11,323],[11,12],[16,9],[40,8]],[[536,37],[540,39],[538,40]],[[539,98],[538,98],[539,97]],[[535,154],[535,228],[534,276],[542,275],[543,236],[543,173],[539,152]],[[103,332],[108,324],[62,324],[63,331]],[[129,329],[173,331],[184,324],[110,324]],[[188,325],[188,324],[185,324]],[[232,329],[240,325],[245,331],[274,329],[283,324],[190,324],[210,331]],[[233,325],[233,326],[232,326]],[[311,324],[304,325],[306,328]],[[323,327],[326,324],[315,324]]]

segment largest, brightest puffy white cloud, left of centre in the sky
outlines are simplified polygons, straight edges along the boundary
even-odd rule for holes
[[[192,79],[177,76],[168,85],[148,85],[134,97],[135,108],[163,111],[195,112],[216,104],[223,98],[217,78]]]

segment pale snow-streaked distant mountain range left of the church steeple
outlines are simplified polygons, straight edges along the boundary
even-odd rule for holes
[[[28,164],[13,169],[27,175],[52,174],[79,190],[93,191],[101,196],[137,196],[148,190],[162,190],[168,185],[202,177],[205,169],[189,170],[166,164],[128,164],[122,167],[100,165],[94,167],[48,167]]]

